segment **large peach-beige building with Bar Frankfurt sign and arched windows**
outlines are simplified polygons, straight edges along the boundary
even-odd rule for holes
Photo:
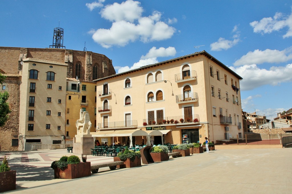
[[[97,130],[160,130],[164,142],[151,136],[152,144],[240,138],[241,79],[206,51],[97,79]],[[130,138],[146,144],[145,137]],[[114,141],[129,145],[130,138]]]

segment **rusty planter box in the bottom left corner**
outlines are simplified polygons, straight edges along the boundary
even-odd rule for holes
[[[14,190],[16,183],[16,171],[0,172],[0,192]]]

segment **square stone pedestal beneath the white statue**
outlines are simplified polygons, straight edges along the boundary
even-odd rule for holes
[[[81,155],[91,155],[91,148],[94,148],[93,137],[80,137],[80,142],[76,142],[76,137],[73,141],[73,153]]]

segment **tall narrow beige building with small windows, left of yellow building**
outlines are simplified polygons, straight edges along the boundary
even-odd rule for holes
[[[26,58],[20,84],[21,144],[55,144],[64,140],[67,64]]]

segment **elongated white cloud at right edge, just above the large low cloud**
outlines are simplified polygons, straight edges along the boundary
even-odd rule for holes
[[[234,62],[234,66],[262,64],[262,63],[279,63],[286,62],[292,59],[292,47],[284,50],[254,50],[243,55],[239,60]]]

